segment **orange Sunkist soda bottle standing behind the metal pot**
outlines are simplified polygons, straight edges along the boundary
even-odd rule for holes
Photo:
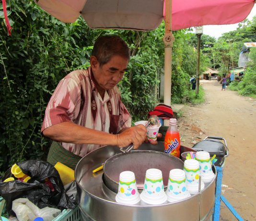
[[[177,120],[170,119],[170,126],[164,137],[164,152],[176,157],[180,157],[180,134],[177,129]]]

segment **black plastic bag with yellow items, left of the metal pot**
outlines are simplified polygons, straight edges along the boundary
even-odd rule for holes
[[[65,194],[64,186],[54,166],[40,160],[27,160],[16,164],[31,179],[27,183],[20,180],[0,182],[0,195],[6,200],[6,209],[9,213],[14,214],[12,201],[18,198],[27,198],[40,209],[46,206],[60,210],[76,207]],[[45,183],[47,178],[53,186],[53,191]]]

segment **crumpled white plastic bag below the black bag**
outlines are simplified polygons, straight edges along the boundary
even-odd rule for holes
[[[13,200],[12,210],[19,221],[34,221],[36,217],[42,217],[44,221],[52,221],[61,212],[61,210],[50,207],[39,209],[26,198]]]

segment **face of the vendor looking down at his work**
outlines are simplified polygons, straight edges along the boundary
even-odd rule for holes
[[[122,80],[128,66],[128,59],[113,56],[108,63],[100,66],[95,56],[91,57],[91,67],[99,91],[112,89]]]

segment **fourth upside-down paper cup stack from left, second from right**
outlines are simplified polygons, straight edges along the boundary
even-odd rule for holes
[[[184,171],[186,173],[186,186],[190,194],[196,194],[199,190],[199,163],[195,159],[188,159],[184,162]],[[204,189],[204,183],[201,181],[201,190]]]

